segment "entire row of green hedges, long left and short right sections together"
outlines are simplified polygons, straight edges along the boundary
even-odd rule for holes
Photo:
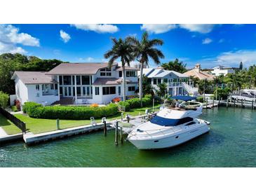
[[[119,107],[122,106],[126,111],[130,109],[140,108],[141,102],[139,98],[126,100],[126,102],[118,102],[107,104],[105,107],[93,106],[46,106],[35,102],[26,102],[23,106],[23,111],[31,118],[48,118],[48,119],[73,119],[82,120],[94,118],[102,118],[114,116],[118,114]],[[145,95],[142,98],[142,106],[147,107],[152,104],[151,95]]]

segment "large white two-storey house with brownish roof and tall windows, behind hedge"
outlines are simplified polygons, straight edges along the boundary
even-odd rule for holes
[[[45,104],[107,104],[123,97],[117,63],[62,63],[48,72],[15,71],[17,99]],[[126,67],[126,95],[135,95],[137,69]]]

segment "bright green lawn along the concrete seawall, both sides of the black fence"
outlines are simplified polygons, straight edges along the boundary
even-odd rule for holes
[[[160,107],[160,104],[157,104],[156,107],[154,107],[154,109],[159,109],[159,107]],[[126,113],[130,114],[131,116],[138,116],[139,114],[141,115],[144,114],[146,109],[152,110],[152,107],[130,109],[130,111]],[[23,115],[23,114],[15,114],[15,116],[19,118],[21,121],[25,122],[27,126],[27,130],[34,134],[56,130],[55,119],[30,118],[29,116]],[[107,120],[115,120],[120,118],[121,118],[121,112],[119,112],[119,114],[116,114],[116,116],[108,117]],[[96,119],[96,122],[97,123],[101,122],[101,118]],[[13,125],[11,122],[5,123],[5,124],[6,125],[4,126],[0,124],[0,126],[3,127],[8,134],[15,134],[20,132],[20,129],[16,128],[15,125]],[[60,120],[60,129],[72,128],[76,126],[89,125],[89,124],[90,124],[90,120]]]

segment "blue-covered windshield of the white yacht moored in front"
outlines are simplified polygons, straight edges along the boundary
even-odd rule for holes
[[[155,116],[151,119],[151,123],[154,123],[156,125],[161,126],[176,126],[181,125],[183,123],[187,123],[189,121],[193,121],[193,118],[186,117],[186,118],[180,118],[180,119],[173,119],[173,118],[163,118],[161,116]]]

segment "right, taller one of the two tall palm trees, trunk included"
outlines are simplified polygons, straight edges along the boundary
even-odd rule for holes
[[[142,106],[142,76],[143,76],[143,67],[149,64],[149,57],[156,63],[160,64],[159,58],[164,58],[161,50],[155,48],[155,46],[162,46],[163,41],[161,39],[151,39],[149,40],[149,34],[144,32],[142,34],[142,39],[139,41],[134,36],[128,37],[128,41],[133,43],[133,53],[137,58],[137,61],[140,62],[140,103]]]

